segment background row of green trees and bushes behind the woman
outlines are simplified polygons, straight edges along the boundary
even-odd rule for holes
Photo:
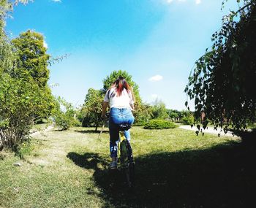
[[[113,71],[106,77],[102,84],[103,88],[96,90],[89,88],[83,106],[78,110],[78,120],[81,126],[95,127],[95,131],[99,126],[102,126],[100,118],[102,110],[102,101],[105,93],[110,88],[110,85],[119,77],[125,77],[127,82],[132,86],[135,93],[135,125],[144,126],[149,120],[170,120],[174,122],[183,122],[185,124],[194,123],[194,116],[189,111],[178,111],[167,109],[162,101],[156,100],[153,104],[143,103],[140,98],[138,85],[132,80],[132,76],[126,71]]]

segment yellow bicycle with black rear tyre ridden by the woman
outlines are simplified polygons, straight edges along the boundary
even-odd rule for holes
[[[104,127],[105,127],[105,121],[102,126],[102,131]],[[129,130],[129,128],[131,128],[130,125],[126,125],[126,124],[119,125],[117,170],[125,172],[128,188],[133,188],[135,184],[135,162],[132,155],[132,147],[129,141],[124,136],[124,131]],[[102,134],[102,131],[99,133],[99,136]],[[115,169],[110,169],[110,171],[114,172]]]

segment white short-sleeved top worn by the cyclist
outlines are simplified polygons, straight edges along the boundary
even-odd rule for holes
[[[105,94],[105,102],[108,102],[110,108],[129,108],[132,109],[130,104],[134,104],[132,93],[130,90],[124,89],[120,96],[117,96],[116,88],[110,88]]]

